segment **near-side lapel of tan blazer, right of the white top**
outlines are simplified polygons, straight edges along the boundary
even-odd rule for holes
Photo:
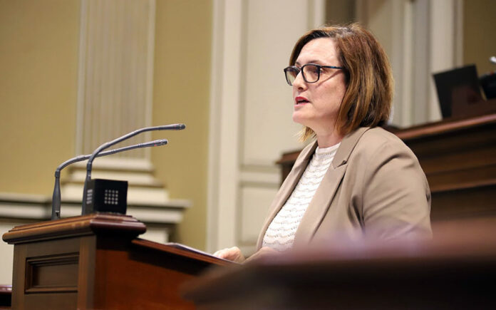
[[[341,185],[341,180],[346,172],[348,158],[361,135],[368,129],[369,128],[358,128],[353,131],[353,133],[346,135],[341,141],[341,145],[339,145],[339,148],[336,151],[334,160],[331,162],[309,207],[301,218],[298,229],[296,229],[294,246],[308,244],[312,237],[314,237],[316,230],[319,228],[326,213],[329,211],[329,207],[331,206],[331,202],[334,199],[334,195],[336,195],[339,185]]]

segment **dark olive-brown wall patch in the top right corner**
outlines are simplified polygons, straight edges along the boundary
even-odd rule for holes
[[[496,71],[489,62],[496,56],[496,1],[464,1],[463,7],[463,62],[475,63],[481,76]]]

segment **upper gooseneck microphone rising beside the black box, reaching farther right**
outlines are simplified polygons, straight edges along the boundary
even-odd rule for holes
[[[186,128],[185,124],[172,124],[172,125],[161,125],[161,126],[154,126],[154,127],[145,127],[141,128],[138,130],[133,131],[132,133],[128,133],[127,135],[123,135],[122,137],[119,137],[115,140],[112,140],[108,143],[103,143],[103,145],[100,145],[96,150],[93,151],[91,154],[91,157],[88,159],[88,164],[86,164],[86,180],[84,180],[84,187],[83,187],[83,210],[81,212],[82,215],[86,215],[86,205],[87,205],[87,200],[88,200],[88,182],[91,181],[91,168],[93,165],[93,160],[95,160],[95,157],[105,150],[106,148],[110,148],[112,145],[115,145],[117,143],[120,143],[124,140],[127,140],[129,138],[134,137],[135,135],[138,135],[140,133],[145,133],[146,131],[155,131],[155,130],[183,130]],[[126,185],[127,186],[127,185]]]

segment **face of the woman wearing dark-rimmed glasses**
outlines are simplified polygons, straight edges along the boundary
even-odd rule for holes
[[[295,66],[316,63],[321,66],[341,66],[332,38],[316,38],[301,49]],[[343,70],[321,68],[319,81],[306,83],[301,72],[293,82],[293,121],[314,130],[316,135],[334,132],[339,105],[346,92]]]

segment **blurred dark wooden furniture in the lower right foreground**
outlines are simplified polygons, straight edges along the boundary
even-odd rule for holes
[[[190,282],[197,309],[494,309],[496,220],[438,223],[435,239],[335,244]]]

